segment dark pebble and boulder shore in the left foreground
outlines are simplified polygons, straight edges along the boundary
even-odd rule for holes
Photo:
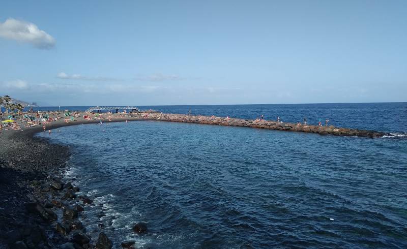
[[[71,124],[75,123],[55,123],[52,128]],[[86,216],[86,206],[94,204],[77,195],[78,186],[63,181],[69,147],[33,137],[41,130],[34,127],[0,136],[0,248],[112,248],[103,226],[92,238],[79,220]],[[134,232],[145,232],[138,226]],[[124,241],[122,246],[133,244]]]

